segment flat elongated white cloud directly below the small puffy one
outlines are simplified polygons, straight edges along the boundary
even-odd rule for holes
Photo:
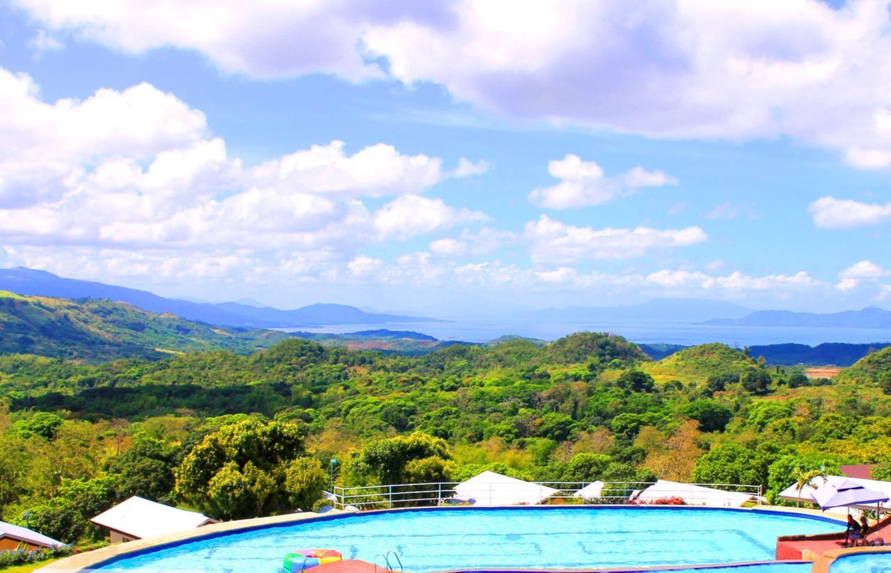
[[[593,229],[574,227],[541,215],[527,222],[525,237],[529,241],[532,260],[556,264],[584,259],[631,259],[651,251],[678,246],[691,246],[707,240],[699,227],[677,230]]]

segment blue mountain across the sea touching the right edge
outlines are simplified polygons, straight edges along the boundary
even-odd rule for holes
[[[875,306],[862,311],[829,314],[756,311],[742,318],[709,319],[700,324],[733,327],[891,328],[891,311]]]

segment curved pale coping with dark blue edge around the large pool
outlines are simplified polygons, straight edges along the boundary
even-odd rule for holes
[[[386,514],[393,512],[429,512],[429,511],[489,511],[489,510],[517,510],[517,511],[553,511],[553,510],[590,510],[597,509],[599,511],[609,511],[616,509],[635,509],[635,510],[656,510],[656,511],[730,511],[730,512],[757,512],[764,513],[767,515],[798,515],[801,517],[808,517],[817,521],[827,521],[831,523],[839,523],[844,525],[843,521],[838,519],[833,519],[821,512],[814,512],[813,510],[807,510],[802,508],[787,508],[781,506],[772,506],[772,505],[757,505],[755,507],[708,507],[708,506],[699,506],[699,505],[634,505],[634,504],[557,504],[557,505],[503,505],[503,506],[487,506],[487,507],[474,507],[474,506],[452,506],[452,507],[443,507],[443,506],[430,506],[430,507],[402,507],[402,508],[388,508],[388,509],[380,509],[380,510],[370,510],[364,512],[343,512],[340,510],[332,510],[326,513],[315,513],[315,512],[298,512],[298,513],[284,513],[282,515],[274,515],[271,517],[259,517],[249,520],[236,520],[236,521],[222,521],[219,523],[213,523],[210,525],[205,525],[196,529],[186,529],[184,531],[177,531],[174,533],[170,533],[164,536],[158,537],[149,537],[147,539],[137,539],[135,541],[129,541],[127,543],[119,543],[115,545],[108,545],[107,547],[102,547],[101,549],[96,549],[91,552],[86,553],[78,553],[77,555],[71,555],[62,559],[60,561],[54,561],[49,565],[45,565],[40,569],[35,569],[36,572],[39,573],[86,573],[87,571],[94,570],[99,567],[104,567],[114,563],[115,561],[121,561],[123,559],[127,559],[129,557],[136,557],[145,553],[154,553],[156,551],[161,551],[163,549],[168,549],[171,547],[176,547],[178,545],[184,545],[188,543],[192,543],[195,541],[199,541],[200,539],[212,539],[214,537],[223,537],[225,535],[230,535],[233,533],[244,533],[249,531],[257,531],[260,529],[274,529],[278,527],[285,527],[293,523],[298,523],[301,521],[331,521],[336,519],[347,519],[354,515],[372,515],[372,514]],[[796,511],[788,511],[788,510],[796,510]],[[786,561],[766,561],[766,562],[786,562]],[[722,566],[722,563],[714,563],[711,564],[711,567],[719,567]],[[691,569],[695,567],[694,565],[684,565],[682,569]],[[675,570],[678,568],[675,566]],[[461,569],[462,571],[470,571],[477,569]],[[483,569],[479,569],[483,570]],[[515,569],[494,569],[494,570],[515,570]],[[544,569],[537,569],[538,571],[542,571]],[[560,569],[569,570],[569,569]],[[578,569],[582,570],[582,569]],[[622,569],[584,569],[586,571],[594,571],[599,570],[603,572],[609,571],[620,571]],[[625,569],[626,571],[646,571],[646,570],[659,570],[655,568],[650,569]],[[665,569],[663,569],[665,570]],[[667,569],[671,570],[671,569]]]

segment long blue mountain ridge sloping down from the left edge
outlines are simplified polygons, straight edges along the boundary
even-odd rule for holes
[[[69,299],[108,299],[133,304],[143,311],[168,312],[188,320],[231,327],[288,328],[344,324],[433,321],[436,319],[378,314],[344,304],[311,304],[293,311],[280,311],[250,303],[195,303],[165,298],[147,291],[111,286],[88,280],[62,278],[45,270],[23,267],[0,270],[0,290],[20,295],[55,296]]]

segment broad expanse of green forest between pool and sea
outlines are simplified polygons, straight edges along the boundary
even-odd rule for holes
[[[870,371],[887,359],[871,355]],[[296,338],[252,355],[5,356],[0,511],[7,521],[30,511],[32,526],[66,541],[97,538],[88,518],[135,494],[220,518],[291,511],[313,504],[334,457],[347,485],[495,468],[775,493],[820,466],[888,472],[891,398],[863,370],[809,380],[721,344],[653,361],[591,333],[419,357]],[[262,446],[281,440],[285,455]],[[239,444],[255,445],[239,453]]]

